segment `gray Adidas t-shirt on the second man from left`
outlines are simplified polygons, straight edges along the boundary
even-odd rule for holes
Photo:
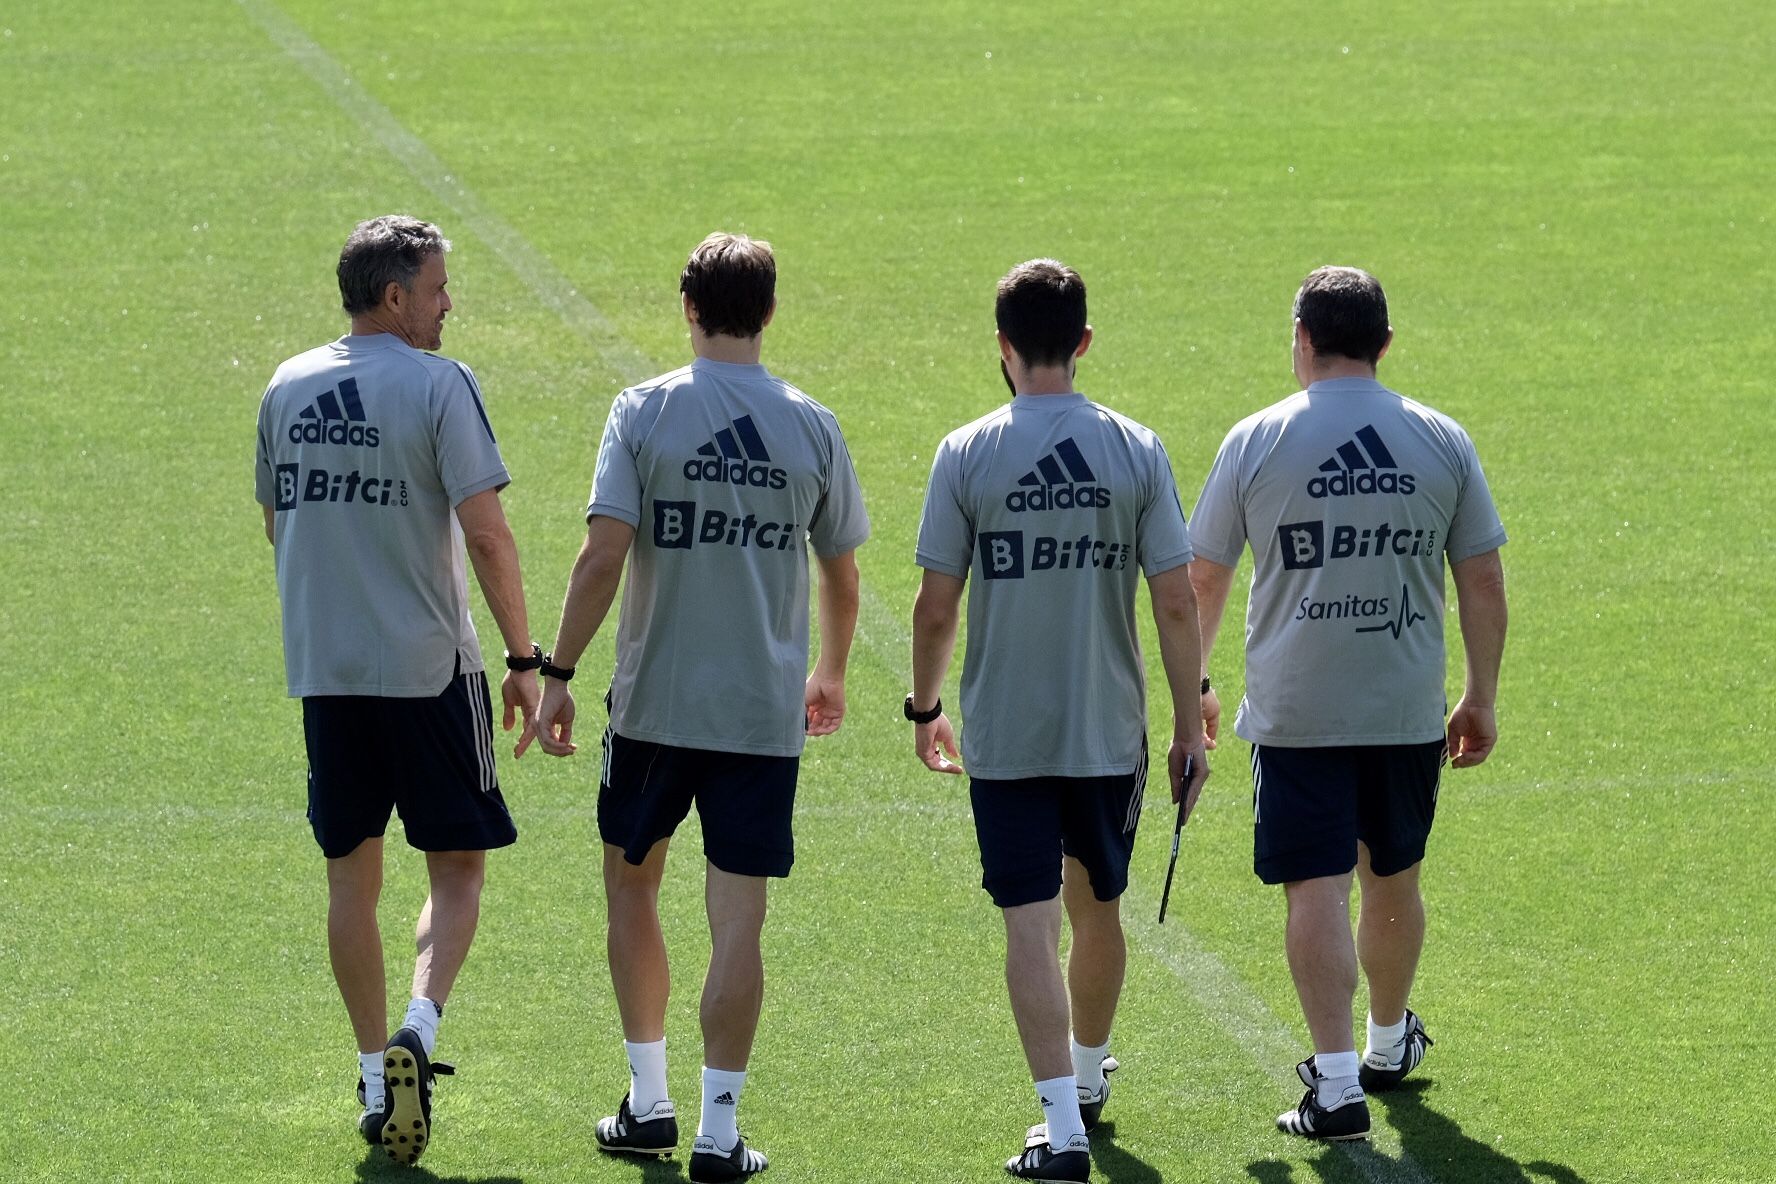
[[[870,534],[829,410],[764,366],[696,359],[616,396],[586,517],[636,527],[611,726],[632,740],[797,756],[808,556]]]

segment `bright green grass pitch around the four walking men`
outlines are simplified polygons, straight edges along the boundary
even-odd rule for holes
[[[773,896],[767,1179],[991,1180],[1039,1117],[966,801],[899,698],[931,451],[1003,398],[993,280],[1057,254],[1082,389],[1162,431],[1186,502],[1291,391],[1300,277],[1371,268],[1384,378],[1469,426],[1513,538],[1502,742],[1446,781],[1424,873],[1423,1085],[1373,1150],[1272,1129],[1307,1046],[1225,746],[1163,928],[1169,811],[1144,827],[1098,1177],[1776,1180],[1772,60],[1748,0],[0,11],[0,1179],[682,1179],[590,1145],[623,1058],[584,754],[501,767],[522,840],[437,1148],[396,1172],[350,1127],[250,440],[274,366],[343,332],[345,233],[401,209],[456,243],[444,348],[488,392],[538,635],[611,394],[689,357],[705,231],[773,240],[765,360],[852,442],[868,600]],[[584,667],[590,708],[607,639]],[[693,1109],[694,841],[666,895]],[[423,872],[391,852],[400,989]]]

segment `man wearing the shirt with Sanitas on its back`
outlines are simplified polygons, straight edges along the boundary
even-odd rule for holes
[[[1234,730],[1252,744],[1252,868],[1282,884],[1289,975],[1314,1044],[1296,1065],[1307,1092],[1277,1127],[1364,1140],[1368,1092],[1399,1085],[1431,1046],[1407,1006],[1424,946],[1419,864],[1444,762],[1478,765],[1499,738],[1504,525],[1467,431],[1376,380],[1394,330],[1373,275],[1314,270],[1293,320],[1302,391],[1222,442],[1190,515],[1190,582],[1208,655],[1252,549]],[[1467,689],[1447,715],[1446,566],[1467,655]],[[1213,744],[1213,692],[1202,710]],[[1369,985],[1360,1058],[1350,1026],[1359,966]]]

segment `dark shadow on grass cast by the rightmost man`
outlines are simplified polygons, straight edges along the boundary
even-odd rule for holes
[[[1396,1090],[1371,1093],[1369,1113],[1376,1124],[1394,1129],[1401,1150],[1439,1184],[1586,1184],[1566,1164],[1545,1159],[1517,1163],[1490,1143],[1463,1134],[1458,1122],[1424,1104],[1430,1086],[1430,1081],[1407,1081]],[[1323,1147],[1304,1166],[1318,1184],[1378,1179],[1375,1172],[1360,1170],[1366,1159],[1385,1163],[1387,1156],[1368,1143],[1344,1143],[1339,1148]],[[1293,1172],[1295,1164],[1280,1159],[1245,1164],[1245,1173],[1257,1184],[1298,1184]],[[1387,1179],[1385,1173],[1380,1179]]]

